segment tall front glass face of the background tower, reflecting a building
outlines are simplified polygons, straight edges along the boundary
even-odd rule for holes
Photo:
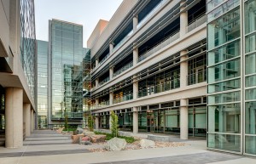
[[[52,119],[83,120],[83,26],[51,20]]]

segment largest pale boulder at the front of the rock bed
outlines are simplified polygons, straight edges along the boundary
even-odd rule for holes
[[[113,138],[105,144],[105,149],[110,151],[125,150],[126,144],[125,139]]]

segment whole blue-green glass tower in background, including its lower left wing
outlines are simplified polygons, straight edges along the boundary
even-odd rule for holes
[[[38,41],[38,128],[84,125],[83,26],[49,20],[49,42]],[[87,57],[88,58],[88,57]]]

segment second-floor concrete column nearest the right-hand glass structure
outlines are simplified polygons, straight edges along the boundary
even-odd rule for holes
[[[187,51],[180,52],[180,60],[182,61],[180,63],[180,88],[183,88],[188,84],[188,60],[183,61],[184,59],[188,59],[187,55],[183,55],[186,53]]]

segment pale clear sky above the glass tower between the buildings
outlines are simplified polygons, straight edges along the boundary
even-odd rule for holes
[[[110,20],[123,0],[35,0],[36,34],[48,41],[49,20],[65,20],[83,25],[84,48],[97,22]]]

